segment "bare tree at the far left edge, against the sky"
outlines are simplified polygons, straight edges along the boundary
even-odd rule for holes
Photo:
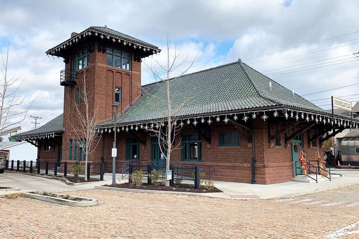
[[[4,59],[3,53],[0,54],[3,61],[1,67],[3,76],[0,81],[0,133],[2,133],[25,119],[32,102],[27,109],[22,109],[27,95],[19,96],[18,90],[23,87],[24,81],[19,81],[21,75],[17,78],[8,76],[9,43],[6,58]]]

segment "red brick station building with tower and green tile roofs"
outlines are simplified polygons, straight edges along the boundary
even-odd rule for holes
[[[158,140],[152,137],[163,114],[151,105],[163,97],[159,83],[142,86],[141,59],[160,52],[158,47],[105,27],[90,27],[49,49],[64,58],[60,84],[64,86],[64,114],[36,130],[18,134],[39,147],[39,159],[84,162],[83,149],[74,139],[70,122],[81,104],[80,77],[86,73],[91,109],[99,109],[99,144],[91,162],[111,164],[116,132],[117,162],[164,162]],[[162,82],[163,83],[163,82]],[[247,64],[233,62],[171,80],[175,103],[189,97],[174,117],[180,144],[171,161],[214,166],[212,180],[271,184],[291,181],[298,152],[307,160],[321,154],[322,142],[358,120],[332,115]],[[119,105],[117,127],[111,105]],[[61,119],[61,120],[60,120]],[[54,128],[52,130],[52,128]],[[324,136],[326,133],[333,133]]]

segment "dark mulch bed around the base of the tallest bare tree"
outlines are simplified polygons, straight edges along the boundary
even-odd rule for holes
[[[213,190],[207,190],[203,186],[199,189],[192,188],[191,185],[188,184],[181,184],[180,186],[174,186],[174,187],[168,187],[168,186],[162,186],[162,185],[147,185],[147,184],[141,184],[141,186],[130,186],[130,183],[121,183],[121,184],[115,184],[115,186],[112,185],[103,185],[106,187],[118,187],[118,188],[131,188],[131,189],[143,189],[143,190],[158,190],[158,191],[172,191],[172,192],[198,192],[198,193],[208,193],[208,192],[222,192],[218,188],[214,188]],[[189,190],[187,190],[189,189]]]

